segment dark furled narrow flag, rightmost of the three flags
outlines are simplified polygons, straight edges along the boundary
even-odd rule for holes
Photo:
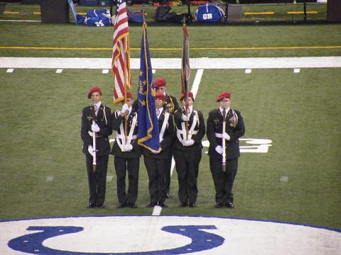
[[[188,42],[187,26],[183,24],[183,55],[181,57],[181,94],[186,94],[188,98],[188,84],[190,84],[190,50]]]

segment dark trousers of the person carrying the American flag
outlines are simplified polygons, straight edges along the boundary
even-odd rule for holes
[[[139,189],[139,158],[114,157],[117,176],[117,198],[120,204],[136,203]],[[126,172],[128,172],[128,191],[126,193]]]

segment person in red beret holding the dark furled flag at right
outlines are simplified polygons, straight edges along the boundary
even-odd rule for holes
[[[191,208],[195,208],[197,175],[202,152],[201,140],[205,135],[205,120],[200,111],[193,109],[192,92],[188,93],[187,115],[185,114],[185,94],[181,96],[180,101],[183,102],[184,107],[175,111],[176,137],[173,142],[173,155],[179,183],[179,206],[189,205]],[[187,128],[186,125],[188,125]]]

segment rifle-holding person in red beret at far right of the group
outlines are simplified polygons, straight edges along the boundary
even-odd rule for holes
[[[217,97],[219,108],[211,111],[207,119],[207,138],[210,142],[208,154],[210,169],[215,183],[215,208],[233,208],[232,187],[237,174],[239,152],[239,137],[245,133],[242,114],[230,108],[231,94],[222,92]],[[225,130],[222,130],[222,120],[225,115]],[[225,140],[226,170],[222,171],[222,140]]]

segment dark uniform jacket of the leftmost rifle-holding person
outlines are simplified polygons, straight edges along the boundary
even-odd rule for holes
[[[110,120],[112,118],[112,111],[109,107],[99,106],[99,110],[95,121],[99,126],[99,132],[96,133],[96,155],[108,155],[110,153],[110,145],[109,145],[109,135],[112,135],[112,128],[110,126]],[[83,140],[83,150],[82,152],[85,154],[90,153],[87,151],[89,145],[92,145],[92,112],[91,106],[87,106],[83,108],[82,111],[82,125],[80,130],[80,137]],[[90,131],[90,133],[89,133]]]

